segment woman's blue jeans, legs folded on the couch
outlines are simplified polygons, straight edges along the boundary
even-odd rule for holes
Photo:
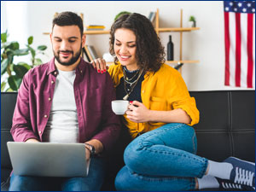
[[[192,127],[172,123],[148,131],[133,140],[124,154],[125,166],[115,178],[117,190],[195,189],[195,177],[203,177],[208,160],[197,156]]]

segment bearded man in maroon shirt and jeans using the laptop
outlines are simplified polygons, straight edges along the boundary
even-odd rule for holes
[[[12,174],[9,190],[99,190],[108,151],[119,136],[112,112],[113,83],[106,73],[80,58],[85,44],[81,18],[62,12],[53,20],[50,40],[55,55],[26,73],[17,98],[11,134],[15,142],[85,143],[88,177],[22,177]],[[69,166],[69,165],[67,165]]]

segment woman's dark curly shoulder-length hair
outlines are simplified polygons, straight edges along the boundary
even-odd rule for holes
[[[119,28],[129,29],[136,36],[137,65],[146,72],[157,72],[165,62],[166,53],[151,21],[144,15],[137,13],[121,15],[115,20],[110,30],[109,51],[111,55],[114,55],[114,33]],[[117,61],[115,56],[114,63],[116,64]]]

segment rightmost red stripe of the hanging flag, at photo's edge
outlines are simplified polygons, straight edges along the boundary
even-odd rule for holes
[[[253,14],[247,15],[247,87],[253,88]]]

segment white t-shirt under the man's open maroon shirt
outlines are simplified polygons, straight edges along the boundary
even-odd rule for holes
[[[79,122],[73,92],[75,71],[61,71],[55,80],[55,91],[43,141],[79,143]]]

